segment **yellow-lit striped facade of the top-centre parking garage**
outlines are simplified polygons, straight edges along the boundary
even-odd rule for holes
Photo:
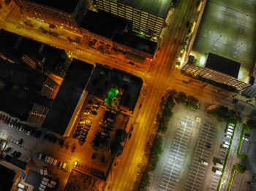
[[[148,38],[154,38],[161,34],[167,12],[170,8],[169,2],[161,14],[149,12],[147,9],[138,7],[133,3],[128,4],[125,1],[96,0],[96,5],[97,9],[102,9],[105,12],[110,12],[131,21],[132,31],[143,34]]]

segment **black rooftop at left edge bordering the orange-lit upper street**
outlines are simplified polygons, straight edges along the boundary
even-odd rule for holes
[[[44,71],[60,73],[59,67],[65,65],[66,53],[64,50],[51,47],[48,44],[0,30],[0,53],[11,60],[24,63],[23,55],[27,55],[31,62],[41,62]],[[35,64],[35,69],[41,71],[41,67]]]

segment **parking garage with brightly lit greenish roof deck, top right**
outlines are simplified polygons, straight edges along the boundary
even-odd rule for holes
[[[197,34],[189,44],[185,72],[237,90],[253,85],[255,12],[244,8],[249,4],[241,4],[206,2]]]

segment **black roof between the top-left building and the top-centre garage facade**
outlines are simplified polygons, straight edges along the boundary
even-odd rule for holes
[[[127,29],[127,20],[117,17],[116,15],[108,12],[87,11],[80,24],[81,28],[86,28],[94,34],[105,36],[112,39],[116,33],[122,33]]]

